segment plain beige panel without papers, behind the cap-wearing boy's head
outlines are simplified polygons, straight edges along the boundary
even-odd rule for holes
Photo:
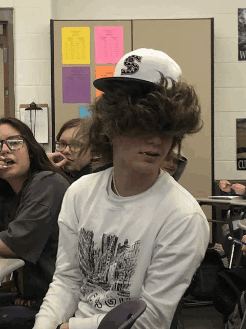
[[[188,167],[179,182],[195,197],[211,195],[211,20],[133,21],[133,49],[142,47],[172,57],[199,95],[204,127],[183,142]]]

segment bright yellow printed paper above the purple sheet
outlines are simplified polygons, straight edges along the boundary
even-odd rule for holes
[[[63,64],[90,64],[90,28],[62,27]]]

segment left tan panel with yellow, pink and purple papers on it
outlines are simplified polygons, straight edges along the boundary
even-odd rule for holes
[[[103,27],[104,30],[96,31],[98,27]],[[83,28],[85,30],[83,30]],[[120,30],[123,32],[122,36]],[[110,45],[109,40],[112,39],[114,40],[114,44]],[[83,44],[79,45],[81,40],[83,40]],[[105,46],[105,49],[96,51],[95,44],[98,44],[99,40],[106,40],[105,42],[101,42],[101,46]],[[73,118],[78,118],[79,106],[86,108],[86,106],[95,99],[96,89],[93,86],[93,81],[96,79],[96,68],[102,69],[106,66],[112,71],[118,62],[118,60],[117,62],[112,62],[116,60],[114,56],[115,41],[118,43],[119,48],[122,47],[124,53],[132,50],[131,21],[51,21],[51,42],[53,43],[53,46],[51,46],[53,51],[52,133],[54,134],[52,141],[55,140],[55,136],[64,122]],[[122,45],[121,42],[123,42]],[[76,44],[78,47],[76,47]],[[80,49],[79,46],[81,47]],[[73,52],[69,52],[69,49],[67,50],[66,47],[72,48]],[[81,53],[84,52],[84,58],[81,58],[83,56],[79,58],[78,54],[76,59],[76,52],[78,53],[79,51]],[[112,56],[110,56],[111,51]],[[64,56],[62,56],[63,52],[65,53]],[[105,60],[105,56],[98,56],[98,53],[105,55],[106,52],[108,52],[108,57],[111,57],[109,59],[110,63],[101,63],[100,61]],[[119,49],[117,55],[120,56],[120,53]],[[120,56],[119,59],[122,56]],[[73,61],[75,62],[74,64],[66,64],[67,62]],[[78,64],[79,61],[84,61],[85,63]],[[73,74],[74,76],[72,76]],[[79,76],[80,74],[84,76]],[[78,78],[73,79],[73,77]],[[79,77],[85,79],[84,81],[86,81],[88,85],[87,90],[79,90]],[[71,80],[74,80],[77,89],[73,90],[73,83]],[[73,99],[74,103],[70,103]]]

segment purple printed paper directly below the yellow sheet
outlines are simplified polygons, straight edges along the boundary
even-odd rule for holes
[[[89,66],[63,67],[63,103],[91,102]]]

